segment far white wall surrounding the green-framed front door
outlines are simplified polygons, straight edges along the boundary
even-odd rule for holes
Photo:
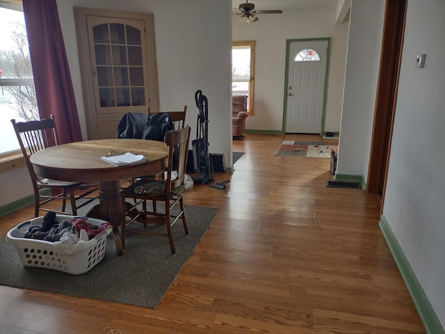
[[[232,20],[234,41],[256,40],[254,116],[246,129],[282,130],[286,40],[332,38],[324,131],[338,132],[348,40],[348,23],[335,24],[336,8],[285,10],[283,14],[258,15],[245,24]]]

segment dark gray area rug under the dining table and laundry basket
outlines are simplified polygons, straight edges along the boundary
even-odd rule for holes
[[[168,237],[128,233],[127,249],[118,257],[111,233],[106,241],[104,260],[78,276],[24,267],[15,245],[2,238],[0,285],[156,308],[219,208],[186,206],[185,211],[189,234],[184,234],[180,220],[173,225],[175,255],[170,252]]]

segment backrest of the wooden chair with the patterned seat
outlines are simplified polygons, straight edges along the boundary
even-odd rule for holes
[[[190,126],[186,125],[182,129],[172,130],[165,134],[165,143],[167,143],[168,152],[168,177],[166,183],[170,189],[175,189],[184,184],[186,175],[186,165],[188,156],[188,141],[190,139]],[[176,154],[175,154],[176,153]],[[177,179],[171,182],[172,170],[178,173]],[[170,191],[168,189],[168,191]]]

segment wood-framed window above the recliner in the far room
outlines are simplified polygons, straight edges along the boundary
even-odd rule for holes
[[[253,113],[255,41],[232,44],[232,95],[248,95],[248,113]]]

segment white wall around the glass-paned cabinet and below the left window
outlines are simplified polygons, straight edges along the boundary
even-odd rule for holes
[[[73,7],[153,13],[161,111],[186,105],[186,122],[192,127],[191,139],[194,139],[195,91],[201,89],[209,100],[210,152],[225,154],[225,166],[231,166],[232,5],[229,1],[58,0],[57,6],[84,139],[86,118]],[[26,168],[1,173],[0,182],[8,189],[8,196],[0,198],[0,207],[32,193]]]

